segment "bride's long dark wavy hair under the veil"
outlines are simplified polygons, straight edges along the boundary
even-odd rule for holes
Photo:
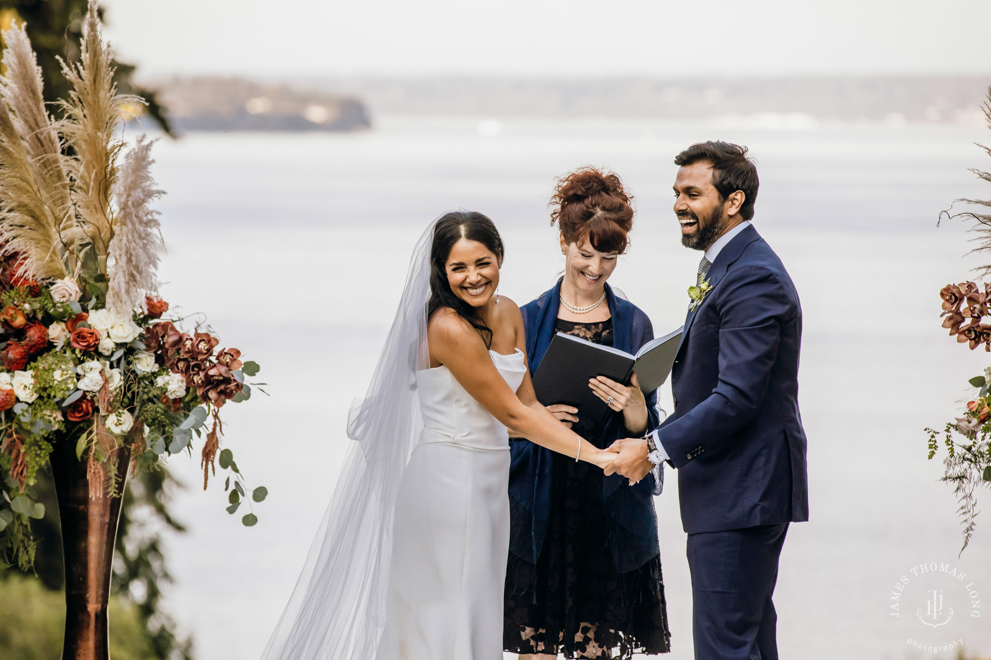
[[[430,300],[427,302],[427,318],[431,318],[442,307],[450,307],[479,331],[486,348],[492,348],[492,329],[476,316],[474,307],[451,290],[451,284],[447,280],[447,259],[451,256],[454,244],[461,239],[486,246],[495,255],[498,265],[502,266],[502,238],[488,216],[478,211],[451,211],[445,214],[434,225],[433,243],[430,246]]]

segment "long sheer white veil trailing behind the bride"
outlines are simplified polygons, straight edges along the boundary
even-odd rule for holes
[[[358,442],[263,660],[375,660],[385,624],[396,492],[422,425],[415,372],[430,366],[426,305],[436,222],[413,249],[372,384],[348,418],[348,437]]]

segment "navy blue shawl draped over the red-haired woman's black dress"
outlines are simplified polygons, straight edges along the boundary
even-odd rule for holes
[[[533,375],[540,366],[556,332],[561,280],[554,288],[523,305],[526,329],[526,358]],[[654,338],[650,319],[633,303],[616,296],[606,284],[606,302],[612,316],[612,345],[620,351],[636,353]],[[655,428],[659,415],[655,408],[657,393],[647,397],[647,428]],[[602,437],[587,438],[605,448],[618,438],[629,436],[622,412],[608,415]],[[512,467],[509,472],[511,510],[510,551],[531,564],[537,563],[547,534],[553,482],[553,452],[529,440],[510,443]],[[635,486],[618,475],[603,478],[603,502],[609,521],[609,547],[616,571],[625,573],[643,566],[658,554],[657,515],[652,495],[660,494],[654,475]]]

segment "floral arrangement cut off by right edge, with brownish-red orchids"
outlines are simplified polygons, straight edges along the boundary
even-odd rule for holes
[[[983,110],[988,126],[991,127],[991,88],[988,89]],[[991,149],[980,147],[991,156]],[[977,169],[972,171],[978,177],[991,182],[991,173]],[[991,200],[956,201],[991,207]],[[953,217],[949,211],[943,211],[940,219],[943,213]],[[972,231],[980,236],[975,239],[978,247],[973,252],[991,252],[991,214],[967,212],[960,215],[977,222]],[[978,271],[984,275],[991,274],[991,266],[982,267]],[[984,317],[991,315],[991,284],[978,286],[972,281],[946,284],[939,291],[939,297],[942,299],[942,327],[949,330],[949,335],[955,336],[957,342],[967,344],[971,351],[983,345],[986,352],[991,352],[991,323],[982,322]],[[947,422],[941,431],[926,429],[929,433],[930,460],[939,450],[938,436],[942,436],[942,443],[946,447],[941,481],[953,486],[953,492],[959,501],[958,512],[963,523],[961,552],[970,542],[975,528],[978,512],[975,491],[978,486],[991,486],[991,367],[968,383],[972,393],[967,397],[970,400],[967,400],[960,416]]]

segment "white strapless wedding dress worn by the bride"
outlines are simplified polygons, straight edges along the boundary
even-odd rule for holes
[[[490,351],[513,391],[526,366]],[[446,367],[416,372],[423,430],[396,500],[379,660],[501,660],[509,439]]]

